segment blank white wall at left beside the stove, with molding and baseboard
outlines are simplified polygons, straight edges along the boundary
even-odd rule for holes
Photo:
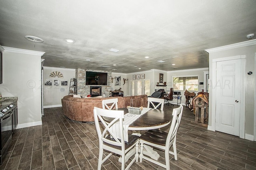
[[[3,97],[18,97],[18,127],[42,125],[41,56],[42,52],[4,47]]]

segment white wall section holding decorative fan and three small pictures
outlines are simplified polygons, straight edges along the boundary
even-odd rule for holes
[[[59,71],[63,74],[63,78],[50,77],[50,73]],[[44,92],[44,108],[62,107],[61,99],[69,93],[70,79],[75,78],[76,70],[70,68],[56,68],[44,66],[43,71],[43,92]],[[46,81],[52,81],[52,86],[45,86]],[[58,80],[59,86],[54,86],[54,80]],[[68,81],[67,86],[62,86],[61,81]],[[72,88],[74,90],[74,88]]]

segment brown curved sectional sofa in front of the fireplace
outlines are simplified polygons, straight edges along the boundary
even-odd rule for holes
[[[118,108],[131,106],[133,99],[134,107],[147,107],[147,95],[109,97],[109,98],[74,98],[73,95],[64,96],[61,100],[64,115],[76,121],[94,121],[94,107],[102,108],[102,100],[118,98]]]

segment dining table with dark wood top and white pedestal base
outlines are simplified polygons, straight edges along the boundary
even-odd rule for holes
[[[118,108],[116,110],[123,110],[124,114],[128,113],[127,108]],[[113,119],[104,117],[106,122],[111,122]],[[150,109],[146,113],[142,114],[135,121],[130,123],[128,130],[132,131],[132,135],[140,136],[140,131],[147,131],[151,129],[159,129],[170,124],[172,121],[172,113],[170,111],[161,111],[159,109]],[[152,147],[144,145],[143,154],[150,156],[152,159],[158,160],[160,155],[153,150]],[[139,147],[140,152],[140,147]],[[135,154],[135,148],[126,154],[125,161],[127,161],[132,155]],[[121,161],[121,159],[119,159]]]

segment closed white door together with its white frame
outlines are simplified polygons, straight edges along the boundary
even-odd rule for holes
[[[213,60],[212,126],[214,130],[245,136],[245,55]]]

